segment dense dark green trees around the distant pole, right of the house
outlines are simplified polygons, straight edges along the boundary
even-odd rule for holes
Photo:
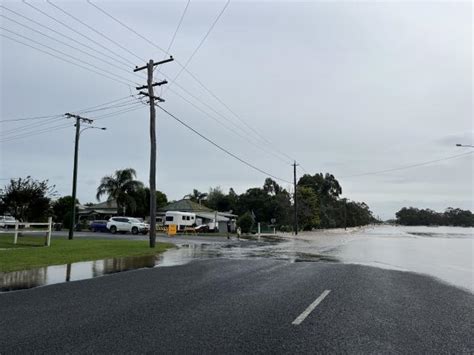
[[[303,175],[296,186],[299,229],[355,227],[377,222],[366,203],[340,198],[341,194],[342,187],[334,175]],[[271,178],[265,179],[262,187],[250,188],[240,195],[232,188],[226,194],[215,187],[209,193],[193,190],[188,196],[213,210],[237,214],[244,232],[257,222],[280,231],[293,229],[293,197]]]

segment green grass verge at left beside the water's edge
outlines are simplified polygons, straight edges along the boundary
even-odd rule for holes
[[[153,255],[172,248],[173,244],[156,243],[151,249],[142,240],[57,239],[44,247],[44,237],[20,237],[13,244],[13,235],[0,235],[0,272],[33,269],[48,265],[114,257]]]

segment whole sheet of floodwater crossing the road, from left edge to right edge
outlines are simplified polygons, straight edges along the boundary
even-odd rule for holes
[[[0,292],[76,281],[122,271],[212,258],[343,262],[417,272],[474,292],[474,228],[375,226],[189,243],[161,255],[114,258],[0,273]],[[184,237],[186,238],[186,237]],[[183,238],[182,238],[183,239]],[[186,242],[186,239],[184,239]]]

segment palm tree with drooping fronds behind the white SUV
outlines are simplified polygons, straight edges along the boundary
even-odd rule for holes
[[[137,176],[135,169],[117,170],[113,175],[104,176],[97,188],[97,200],[107,195],[107,201],[115,200],[117,202],[117,213],[120,215],[125,206],[129,206],[133,211],[137,207],[137,203],[131,192],[143,189],[143,183],[134,178]]]

